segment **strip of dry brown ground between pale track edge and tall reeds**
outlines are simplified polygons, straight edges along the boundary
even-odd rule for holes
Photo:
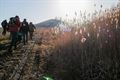
[[[20,80],[39,80],[39,78],[42,76],[43,70],[42,66],[44,65],[44,60],[42,59],[42,52],[40,52],[40,39],[39,36],[34,36],[35,42],[33,49],[31,49],[31,52],[28,55],[28,59],[26,61],[25,67],[22,71]],[[38,45],[39,44],[39,45]],[[39,64],[36,64],[35,57],[36,52],[39,54]]]

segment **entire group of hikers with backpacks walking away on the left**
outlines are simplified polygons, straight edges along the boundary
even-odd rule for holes
[[[24,45],[28,43],[28,38],[32,40],[33,32],[36,29],[32,22],[28,23],[26,19],[22,22],[19,16],[11,17],[9,22],[3,20],[2,23],[3,32],[2,35],[6,35],[6,32],[10,32],[10,47],[9,52],[12,52],[12,47],[17,48],[17,44],[23,42]],[[29,36],[28,36],[29,34]]]

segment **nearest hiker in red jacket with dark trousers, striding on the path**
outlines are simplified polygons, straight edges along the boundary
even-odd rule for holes
[[[11,34],[11,43],[10,43],[10,47],[8,49],[8,51],[12,52],[12,47],[14,46],[14,49],[16,49],[17,45],[17,33],[19,31],[19,25],[18,22],[16,22],[16,17],[11,17],[10,21],[8,23],[8,31]]]

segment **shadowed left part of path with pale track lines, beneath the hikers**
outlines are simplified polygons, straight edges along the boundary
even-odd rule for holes
[[[13,53],[7,52],[0,57],[0,80],[18,80],[33,47],[34,42],[29,41],[27,45],[19,46]]]

